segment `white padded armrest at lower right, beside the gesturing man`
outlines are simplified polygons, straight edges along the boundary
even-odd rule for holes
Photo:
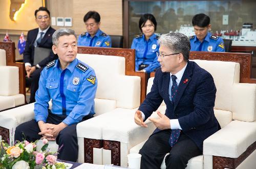
[[[256,141],[256,121],[232,121],[204,140],[203,154],[238,158]]]

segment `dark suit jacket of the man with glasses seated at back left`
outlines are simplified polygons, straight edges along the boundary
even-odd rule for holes
[[[47,30],[44,38],[42,38],[41,43],[38,45],[38,47],[44,47],[44,48],[52,48],[52,34],[55,32],[55,30],[50,26]],[[34,65],[34,41],[36,40],[38,34],[38,28],[34,30],[30,30],[28,32],[25,51],[23,54],[23,62],[24,63],[30,63],[32,66]],[[41,67],[45,67],[47,63],[58,59],[57,56],[51,51],[49,57],[42,60],[38,65]]]

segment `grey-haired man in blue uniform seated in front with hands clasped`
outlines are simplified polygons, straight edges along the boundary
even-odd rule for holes
[[[35,120],[20,124],[15,140],[40,138],[56,140],[58,159],[77,161],[77,123],[93,117],[97,79],[94,70],[76,59],[77,40],[73,30],[59,29],[53,36],[53,52],[58,60],[41,72],[34,107]],[[52,108],[49,101],[52,99]]]

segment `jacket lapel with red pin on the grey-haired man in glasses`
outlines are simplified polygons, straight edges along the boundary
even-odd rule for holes
[[[187,61],[187,67],[183,73],[183,76],[180,80],[179,86],[178,86],[178,92],[177,96],[174,102],[174,109],[176,108],[177,104],[180,101],[181,96],[183,95],[188,83],[191,81],[191,74],[193,72],[193,65],[191,62]]]

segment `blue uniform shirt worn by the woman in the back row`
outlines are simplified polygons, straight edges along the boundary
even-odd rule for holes
[[[139,70],[141,64],[149,65],[145,68],[147,73],[153,72],[156,68],[160,67],[160,63],[157,61],[157,51],[159,50],[157,40],[156,34],[153,34],[148,41],[146,41],[145,35],[133,39],[131,48],[136,50],[136,71]]]

